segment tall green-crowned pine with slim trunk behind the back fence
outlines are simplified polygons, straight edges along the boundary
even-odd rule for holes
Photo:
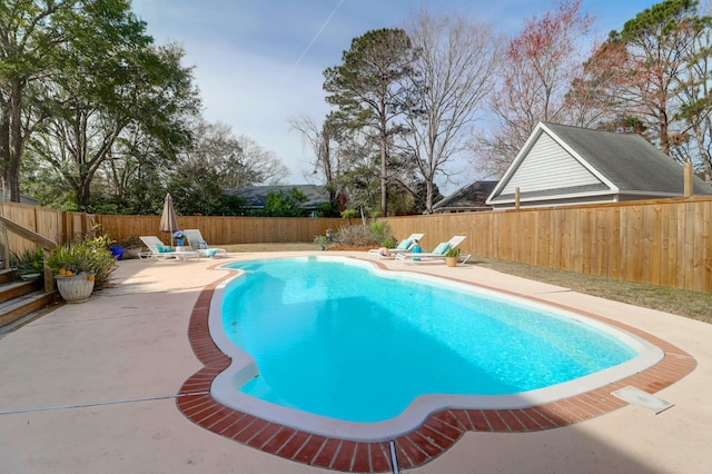
[[[380,211],[388,213],[388,160],[393,141],[404,131],[398,117],[407,107],[403,79],[412,73],[415,51],[402,29],[379,29],[355,38],[343,63],[324,71],[328,103],[346,127],[363,130],[379,147]]]

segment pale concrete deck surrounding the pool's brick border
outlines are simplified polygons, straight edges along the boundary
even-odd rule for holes
[[[267,257],[304,253],[263,254]],[[323,255],[323,254],[320,254]],[[329,253],[366,258],[365,253]],[[202,364],[188,326],[204,288],[227,271],[200,261],[125,260],[116,282],[0,339],[0,463],[3,473],[316,473],[216,435],[177,408],[181,385]],[[690,354],[696,367],[655,393],[657,415],[624,405],[565,427],[530,433],[466,432],[413,473],[706,473],[712,466],[712,325],[613,303],[466,265],[426,271],[595,313]]]

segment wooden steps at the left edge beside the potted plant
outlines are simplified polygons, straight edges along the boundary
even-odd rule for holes
[[[57,290],[44,292],[41,279],[0,283],[0,328],[57,302]]]

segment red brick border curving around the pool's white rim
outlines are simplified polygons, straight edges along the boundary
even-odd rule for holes
[[[178,409],[188,419],[212,433],[286,460],[343,472],[390,472],[390,446],[387,441],[363,442],[326,437],[258,418],[225,406],[212,398],[210,385],[215,377],[230,365],[230,359],[218,349],[210,337],[208,329],[210,300],[215,288],[230,276],[225,276],[206,286],[192,308],[188,324],[188,338],[194,354],[204,367],[180,387],[176,402]],[[543,302],[533,297],[527,298]],[[543,303],[565,307],[551,302]],[[431,462],[451,448],[468,431],[536,432],[568,426],[604,415],[627,405],[626,402],[613,396],[612,392],[632,385],[652,394],[678,382],[691,373],[696,365],[690,354],[645,332],[595,314],[567,309],[627,330],[657,346],[663,350],[664,356],[657,364],[637,374],[597,389],[544,405],[522,409],[436,412],[417,428],[393,440],[398,467],[407,470]]]

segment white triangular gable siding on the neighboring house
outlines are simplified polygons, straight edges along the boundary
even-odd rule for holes
[[[601,182],[552,137],[543,132],[500,194],[514,194],[517,187],[521,192],[531,192]]]

